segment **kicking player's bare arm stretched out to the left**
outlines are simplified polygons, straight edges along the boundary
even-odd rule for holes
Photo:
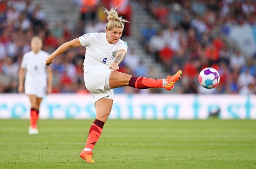
[[[66,52],[70,48],[79,47],[79,46],[82,46],[82,45],[81,45],[81,43],[80,43],[78,38],[75,38],[75,39],[73,39],[71,41],[68,41],[68,42],[62,44],[61,46],[58,47],[58,49],[56,49],[56,51],[54,51],[49,57],[46,58],[45,64],[47,66],[49,66],[51,63],[54,63],[53,59],[55,57],[57,57],[61,53]]]

